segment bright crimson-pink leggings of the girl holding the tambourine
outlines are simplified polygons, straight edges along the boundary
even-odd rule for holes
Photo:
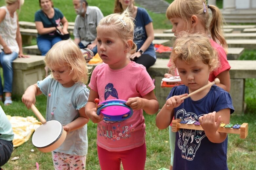
[[[144,170],[146,162],[146,143],[130,150],[115,152],[97,146],[101,170]]]

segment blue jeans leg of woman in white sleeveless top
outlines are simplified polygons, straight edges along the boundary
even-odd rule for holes
[[[12,79],[13,79],[13,69],[12,63],[18,57],[18,54],[12,52],[11,54],[1,53],[0,61],[3,67],[4,75],[4,92],[12,92]]]

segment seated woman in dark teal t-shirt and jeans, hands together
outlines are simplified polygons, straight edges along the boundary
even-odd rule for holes
[[[53,8],[51,0],[39,0],[39,4],[41,9],[35,13],[35,25],[38,31],[37,46],[41,54],[45,55],[56,42],[62,40],[56,34],[55,25],[62,34],[68,34],[68,20],[59,9]]]

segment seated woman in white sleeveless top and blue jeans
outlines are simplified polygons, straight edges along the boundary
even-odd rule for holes
[[[6,6],[0,7],[0,62],[3,68],[4,88],[0,78],[0,100],[5,92],[5,105],[10,105],[12,92],[12,62],[17,57],[28,57],[22,53],[22,39],[16,10],[24,0],[5,0]]]

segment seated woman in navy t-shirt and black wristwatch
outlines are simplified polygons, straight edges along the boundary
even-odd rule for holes
[[[146,9],[134,5],[134,0],[115,0],[115,13],[120,13],[126,8],[129,8],[134,18],[133,41],[137,45],[137,52],[130,55],[130,59],[148,69],[156,62],[156,53],[152,43],[154,39],[152,19]]]

